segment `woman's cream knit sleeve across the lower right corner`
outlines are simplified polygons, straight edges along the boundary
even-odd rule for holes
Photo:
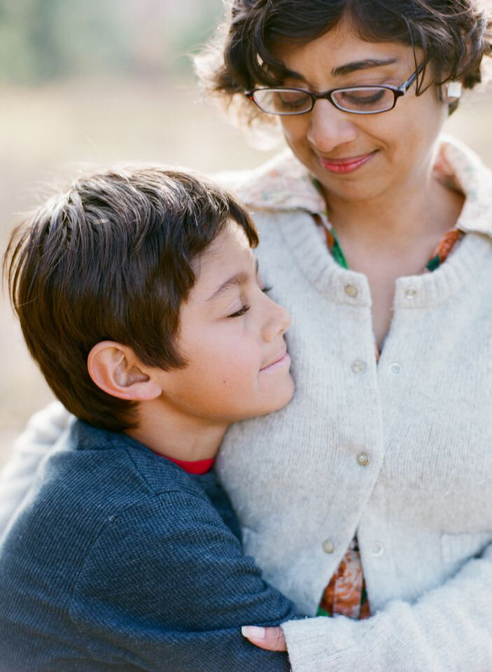
[[[492,546],[419,601],[366,621],[283,624],[293,672],[482,672],[492,669]]]

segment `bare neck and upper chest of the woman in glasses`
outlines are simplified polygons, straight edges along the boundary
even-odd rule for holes
[[[395,281],[423,272],[444,234],[456,225],[463,195],[435,179],[395,190],[377,202],[337,202],[328,214],[352,270],[367,277],[374,337],[379,346],[390,328]]]

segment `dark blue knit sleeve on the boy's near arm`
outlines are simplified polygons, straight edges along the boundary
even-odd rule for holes
[[[296,612],[213,507],[180,491],[108,519],[70,615],[90,657],[121,670],[287,672],[286,654],[254,647],[241,626]]]

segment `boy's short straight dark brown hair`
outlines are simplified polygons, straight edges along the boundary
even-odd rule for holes
[[[3,258],[10,301],[70,412],[113,431],[138,424],[135,402],[94,384],[87,356],[110,339],[145,365],[185,366],[176,336],[196,280],[192,262],[231,219],[256,246],[248,213],[229,193],[196,174],[136,167],[73,182],[13,231]]]

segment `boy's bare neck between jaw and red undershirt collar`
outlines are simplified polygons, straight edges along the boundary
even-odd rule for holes
[[[216,456],[227,427],[227,423],[193,417],[178,409],[163,409],[159,403],[143,402],[139,404],[139,426],[126,433],[155,453],[195,462]]]

